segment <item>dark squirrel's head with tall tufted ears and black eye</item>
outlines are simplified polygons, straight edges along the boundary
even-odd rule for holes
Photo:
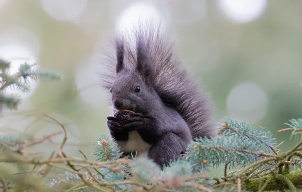
[[[152,104],[153,69],[142,42],[136,44],[136,63],[132,69],[126,68],[124,62],[123,41],[116,42],[117,64],[116,79],[112,83],[111,101],[117,110],[130,110],[144,113]]]

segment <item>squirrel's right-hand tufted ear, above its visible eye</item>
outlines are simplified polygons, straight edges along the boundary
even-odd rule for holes
[[[136,70],[141,74],[141,76],[145,80],[145,84],[150,86],[152,83],[152,74],[153,70],[149,63],[148,53],[146,51],[146,47],[144,47],[143,42],[140,38],[136,39],[136,60],[137,66]]]

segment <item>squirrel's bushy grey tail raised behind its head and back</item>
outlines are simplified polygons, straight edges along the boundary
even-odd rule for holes
[[[162,101],[178,111],[190,127],[193,137],[211,137],[217,134],[212,121],[213,105],[209,94],[177,60],[173,43],[168,34],[161,32],[161,25],[153,22],[142,22],[131,36],[119,35],[115,41],[116,50],[108,52],[102,62],[102,86],[109,91],[116,76],[116,65],[119,57],[124,57],[124,65],[136,65],[136,49],[133,40],[143,43],[148,56],[148,65],[154,72],[154,88]],[[118,46],[119,45],[119,46]],[[123,46],[121,46],[123,45]],[[119,50],[118,47],[123,47]],[[105,71],[106,70],[106,71]]]

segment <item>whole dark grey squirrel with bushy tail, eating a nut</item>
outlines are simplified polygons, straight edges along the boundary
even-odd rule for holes
[[[209,94],[181,68],[173,43],[160,27],[152,22],[137,25],[134,46],[129,36],[117,35],[114,52],[102,62],[101,79],[114,113],[135,112],[125,126],[107,117],[121,152],[145,156],[163,168],[194,138],[211,138],[217,131]]]

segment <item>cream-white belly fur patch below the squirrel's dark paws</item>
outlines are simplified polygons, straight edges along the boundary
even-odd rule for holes
[[[127,141],[117,141],[117,143],[121,151],[133,152],[133,156],[135,156],[135,152],[137,151],[137,156],[144,157],[148,156],[149,149],[152,146],[143,141],[137,131],[129,133],[129,139]]]

